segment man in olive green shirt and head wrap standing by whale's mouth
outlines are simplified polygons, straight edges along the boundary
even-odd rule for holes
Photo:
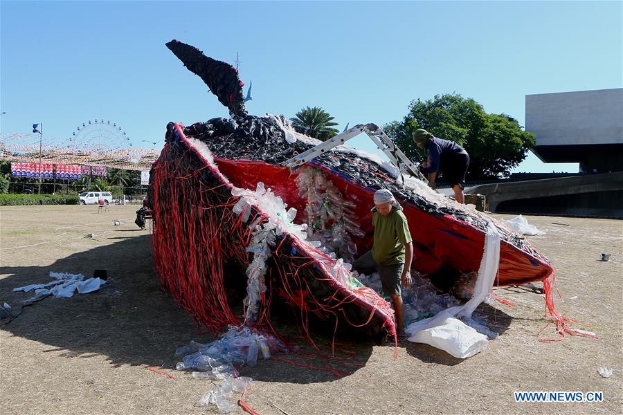
[[[365,252],[352,266],[366,274],[379,271],[383,291],[389,294],[394,303],[397,334],[404,335],[404,306],[400,286],[401,283],[404,288],[411,285],[413,244],[406,216],[389,190],[381,189],[374,193],[372,225],[372,250]]]

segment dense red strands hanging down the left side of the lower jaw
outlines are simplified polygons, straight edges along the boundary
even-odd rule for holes
[[[236,198],[223,197],[218,187],[199,179],[207,167],[190,169],[175,158],[154,165],[152,240],[163,286],[199,324],[217,332],[226,324],[240,324],[228,306],[223,267],[227,257],[248,265],[244,246],[234,238],[248,239],[250,231],[227,209]]]

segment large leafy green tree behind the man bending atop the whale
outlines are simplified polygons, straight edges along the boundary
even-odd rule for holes
[[[413,132],[423,128],[435,137],[453,140],[469,153],[469,180],[507,177],[534,147],[532,133],[522,131],[506,114],[487,114],[482,105],[457,93],[435,95],[433,100],[413,101],[402,122],[384,129],[404,153],[424,160],[424,151],[413,143]]]

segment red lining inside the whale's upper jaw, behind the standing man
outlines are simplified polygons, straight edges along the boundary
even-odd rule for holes
[[[289,167],[255,160],[216,157],[215,163],[233,185],[255,189],[261,181],[265,187],[271,187],[273,192],[281,196],[285,203],[296,208],[299,215],[305,209],[305,200],[298,195],[298,187],[294,181],[296,171],[292,172]],[[361,219],[359,226],[365,232],[365,237],[354,239],[354,242],[360,253],[370,249],[374,233],[370,212],[374,190],[352,183],[322,165],[316,167],[323,169],[330,176],[345,198],[356,203],[355,212]],[[413,268],[425,274],[435,272],[444,264],[463,273],[478,270],[485,244],[485,232],[453,216],[429,214],[413,204],[400,202],[413,237],[415,252]],[[297,216],[297,221],[302,219],[302,216]],[[541,281],[552,273],[552,266],[548,262],[502,241],[499,281],[496,284],[505,286]]]

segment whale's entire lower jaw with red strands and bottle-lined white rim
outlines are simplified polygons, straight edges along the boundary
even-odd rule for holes
[[[309,239],[296,212],[268,186],[238,187],[240,179],[231,181],[203,142],[186,137],[179,124],[172,134],[176,140],[168,140],[152,174],[156,267],[201,324],[218,330],[240,322],[224,289],[225,279],[237,277],[225,275],[224,265],[235,261],[248,278],[247,322],[270,324],[269,305],[279,296],[300,310],[304,324],[313,313],[336,330],[393,332],[390,305],[322,242]],[[298,194],[296,184],[291,194]]]

